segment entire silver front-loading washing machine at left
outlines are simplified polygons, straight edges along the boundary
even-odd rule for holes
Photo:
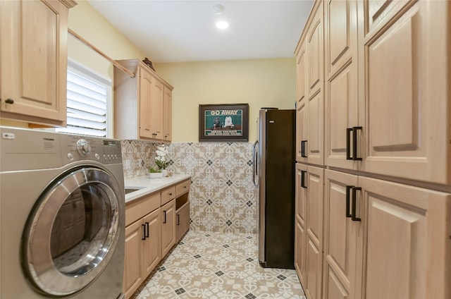
[[[123,298],[121,142],[0,133],[0,298]]]

